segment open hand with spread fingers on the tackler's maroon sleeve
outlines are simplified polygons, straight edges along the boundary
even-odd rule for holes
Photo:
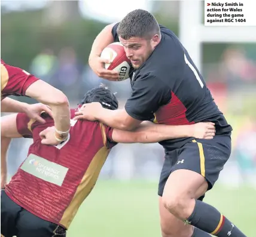
[[[41,118],[41,113],[45,111],[46,113],[48,113],[48,115],[50,115],[51,117],[53,117],[53,112],[51,112],[51,108],[45,104],[41,104],[41,103],[37,103],[37,104],[28,104],[25,107],[25,113],[26,115],[29,116],[29,118],[31,119],[35,119],[38,122],[41,122],[42,124],[45,123],[45,120],[43,118]]]

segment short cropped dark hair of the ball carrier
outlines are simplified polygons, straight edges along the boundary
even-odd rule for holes
[[[160,35],[160,27],[156,18],[145,10],[134,10],[120,21],[117,34],[123,39],[132,37],[147,38],[154,34]]]

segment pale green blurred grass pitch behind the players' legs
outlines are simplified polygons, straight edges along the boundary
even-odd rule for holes
[[[68,237],[160,237],[157,183],[99,181],[74,218]],[[256,236],[256,190],[215,186],[205,201],[248,237]]]

